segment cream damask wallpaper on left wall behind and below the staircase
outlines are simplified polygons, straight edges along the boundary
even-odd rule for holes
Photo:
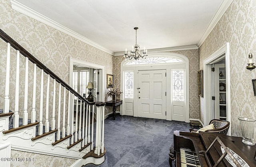
[[[21,14],[11,8],[10,0],[0,0],[0,28],[6,32],[10,37],[17,41],[22,47],[29,51],[34,57],[41,61],[46,67],[53,71],[58,77],[60,77],[66,83],[69,83],[69,63],[70,57],[95,63],[105,66],[105,74],[112,73],[112,59],[113,56],[88,45],[70,35],[67,35],[57,29],[54,29],[46,24],[43,24],[33,18],[30,18],[24,14]],[[4,85],[6,74],[6,48],[7,44],[0,39],[0,108],[3,107],[4,101]],[[16,51],[11,50],[11,63],[10,63],[10,109],[14,111],[14,94],[15,94],[15,78],[16,78]],[[19,114],[22,115],[24,108],[24,58],[20,55],[20,103]],[[33,65],[29,65],[29,96],[32,97],[33,86]],[[40,70],[37,71],[37,87],[36,87],[36,120],[39,120],[39,99],[40,99]],[[47,76],[44,76],[44,85],[46,85]],[[50,91],[52,90],[52,80],[50,81]],[[58,88],[58,84],[56,85]],[[44,86],[44,97],[46,96],[46,86]],[[63,91],[63,88],[62,88]],[[107,89],[105,90],[107,92]],[[63,94],[63,93],[62,93]],[[63,97],[63,96],[62,96]],[[58,91],[56,94],[56,101],[58,99]],[[66,96],[67,99],[67,96]],[[50,96],[50,102],[52,102],[52,96]],[[31,98],[28,100],[28,106],[31,106]],[[67,103],[66,103],[67,105]],[[45,106],[45,101],[44,101]],[[63,108],[63,103],[61,104]],[[52,104],[49,106],[49,110],[52,110]],[[58,106],[56,106],[57,110]],[[62,111],[61,108],[61,111]],[[66,106],[67,108],[67,106]],[[45,110],[45,109],[44,109]],[[28,107],[28,117],[30,118],[31,107]],[[106,108],[108,112],[108,108]],[[55,116],[58,114],[55,113]],[[62,112],[61,112],[62,115]],[[61,116],[62,118],[62,116]],[[57,118],[55,118],[57,119]],[[66,118],[67,119],[67,118]],[[49,116],[51,120],[51,116]],[[56,121],[57,123],[57,121]],[[18,155],[17,155],[18,154]],[[48,157],[44,155],[24,153],[20,151],[13,151],[12,155],[21,156],[21,154],[28,155],[27,157],[36,157],[37,164],[23,164],[23,166],[42,166],[44,164],[50,166],[69,166],[74,163],[74,159],[64,159],[59,157]],[[45,159],[41,159],[45,157]],[[48,163],[46,163],[46,160]],[[40,164],[40,165],[38,165]],[[17,166],[17,164],[13,164]],[[22,166],[22,165],[20,165]]]

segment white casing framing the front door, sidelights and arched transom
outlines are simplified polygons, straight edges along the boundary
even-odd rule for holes
[[[134,97],[133,98],[124,98],[122,94],[122,110],[121,115],[130,115],[138,117],[138,71],[147,71],[147,70],[166,70],[166,120],[172,120],[172,107],[171,107],[171,70],[172,69],[185,69],[185,79],[184,79],[184,117],[185,122],[189,122],[189,60],[186,56],[178,53],[167,53],[167,52],[158,52],[158,53],[149,53],[148,57],[171,57],[182,60],[180,63],[162,63],[162,64],[143,64],[143,65],[126,65],[127,60],[123,60],[121,63],[121,84],[120,88],[124,90],[124,72],[131,71],[134,73]],[[127,103],[127,105],[126,105]],[[127,114],[129,113],[129,114]]]

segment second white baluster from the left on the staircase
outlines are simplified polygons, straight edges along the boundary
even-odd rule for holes
[[[20,86],[20,51],[17,51],[15,105],[14,105],[14,116],[13,116],[14,128],[19,127],[19,86]]]

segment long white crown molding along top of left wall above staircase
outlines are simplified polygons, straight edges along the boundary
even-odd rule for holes
[[[12,9],[14,9],[22,14],[25,14],[26,16],[34,18],[34,19],[38,20],[39,22],[42,22],[48,26],[51,26],[52,28],[58,29],[59,31],[62,31],[78,40],[88,43],[89,45],[96,47],[97,49],[100,49],[101,51],[104,51],[110,55],[114,55],[113,51],[106,49],[105,47],[99,45],[98,43],[95,43],[94,41],[91,41],[90,39],[72,31],[71,29],[68,29],[68,28],[62,26],[61,24],[47,18],[46,16],[43,16],[42,14],[28,8],[27,6],[24,6],[23,4],[17,2],[16,0],[10,0],[10,2],[12,4]]]

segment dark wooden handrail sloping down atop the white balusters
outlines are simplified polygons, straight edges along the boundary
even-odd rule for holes
[[[58,83],[60,83],[62,86],[64,86],[66,89],[70,90],[70,92],[72,92],[73,94],[75,94],[77,97],[79,97],[83,102],[85,102],[86,104],[89,105],[93,105],[94,102],[89,102],[88,100],[86,100],[85,98],[83,98],[78,92],[76,92],[76,90],[74,90],[72,87],[70,87],[67,83],[65,83],[62,79],[60,79],[60,77],[58,77],[56,74],[54,74],[50,69],[48,69],[43,63],[41,63],[38,59],[36,59],[36,57],[34,57],[33,55],[31,55],[26,49],[24,49],[20,44],[18,44],[16,41],[14,41],[14,39],[12,39],[9,35],[7,35],[2,29],[0,29],[0,38],[2,38],[4,41],[6,41],[7,43],[10,43],[10,45],[20,51],[20,53],[24,56],[24,57],[28,57],[28,59],[32,62],[35,63],[37,67],[39,67],[40,69],[43,69],[44,72],[48,75],[50,75],[50,77],[52,77],[53,79],[56,79],[56,81]]]

